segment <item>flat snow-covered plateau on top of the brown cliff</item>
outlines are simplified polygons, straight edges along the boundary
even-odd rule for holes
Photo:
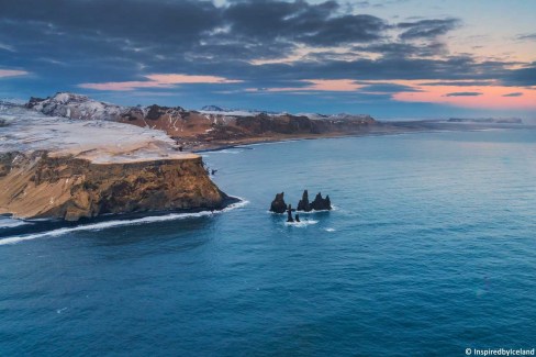
[[[103,120],[72,121],[0,105],[0,154],[47,150],[96,163],[187,157],[163,131]]]

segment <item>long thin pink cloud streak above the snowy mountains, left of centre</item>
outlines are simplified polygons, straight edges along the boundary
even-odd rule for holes
[[[237,83],[242,80],[227,79],[216,76],[190,76],[181,74],[154,74],[145,76],[148,80],[135,81],[112,81],[102,83],[80,83],[78,87],[96,90],[130,91],[137,88],[170,88],[174,85],[192,85],[192,83]]]

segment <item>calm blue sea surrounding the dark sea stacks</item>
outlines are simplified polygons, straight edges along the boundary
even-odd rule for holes
[[[0,221],[0,355],[536,347],[536,131],[288,142],[205,160],[247,204],[45,233]],[[300,225],[268,213],[276,192],[295,205],[303,189],[335,210]]]

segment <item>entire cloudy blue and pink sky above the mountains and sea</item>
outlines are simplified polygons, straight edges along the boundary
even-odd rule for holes
[[[0,98],[536,120],[533,0],[0,0]]]

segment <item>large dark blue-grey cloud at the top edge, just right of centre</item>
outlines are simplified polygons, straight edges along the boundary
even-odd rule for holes
[[[232,3],[222,13],[232,34],[246,43],[303,43],[339,45],[379,40],[387,23],[367,14],[339,14],[336,1],[249,0]]]

